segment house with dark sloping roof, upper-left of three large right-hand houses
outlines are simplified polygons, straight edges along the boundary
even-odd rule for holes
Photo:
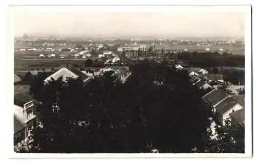
[[[209,109],[209,114],[215,115],[216,109],[215,107],[225,100],[228,97],[226,92],[222,89],[215,88],[208,92],[208,94],[202,97],[202,100],[207,104],[207,108]]]

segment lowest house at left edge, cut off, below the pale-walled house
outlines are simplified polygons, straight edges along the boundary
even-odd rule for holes
[[[14,133],[13,133],[13,143],[14,145],[18,144],[19,142],[25,140],[27,137],[27,125],[17,117],[17,115],[14,114],[13,116],[13,127],[14,127]]]

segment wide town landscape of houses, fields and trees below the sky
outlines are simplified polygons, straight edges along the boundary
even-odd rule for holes
[[[14,37],[15,152],[245,153],[244,38],[31,33]]]

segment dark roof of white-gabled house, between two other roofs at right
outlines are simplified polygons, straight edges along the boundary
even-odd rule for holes
[[[219,103],[215,108],[216,111],[224,114],[229,109],[231,109],[234,105],[237,105],[237,102],[235,100],[232,100],[230,97],[223,100],[221,103]]]

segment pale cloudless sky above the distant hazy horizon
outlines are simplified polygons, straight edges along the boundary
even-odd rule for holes
[[[243,13],[16,12],[14,35],[244,37]]]

